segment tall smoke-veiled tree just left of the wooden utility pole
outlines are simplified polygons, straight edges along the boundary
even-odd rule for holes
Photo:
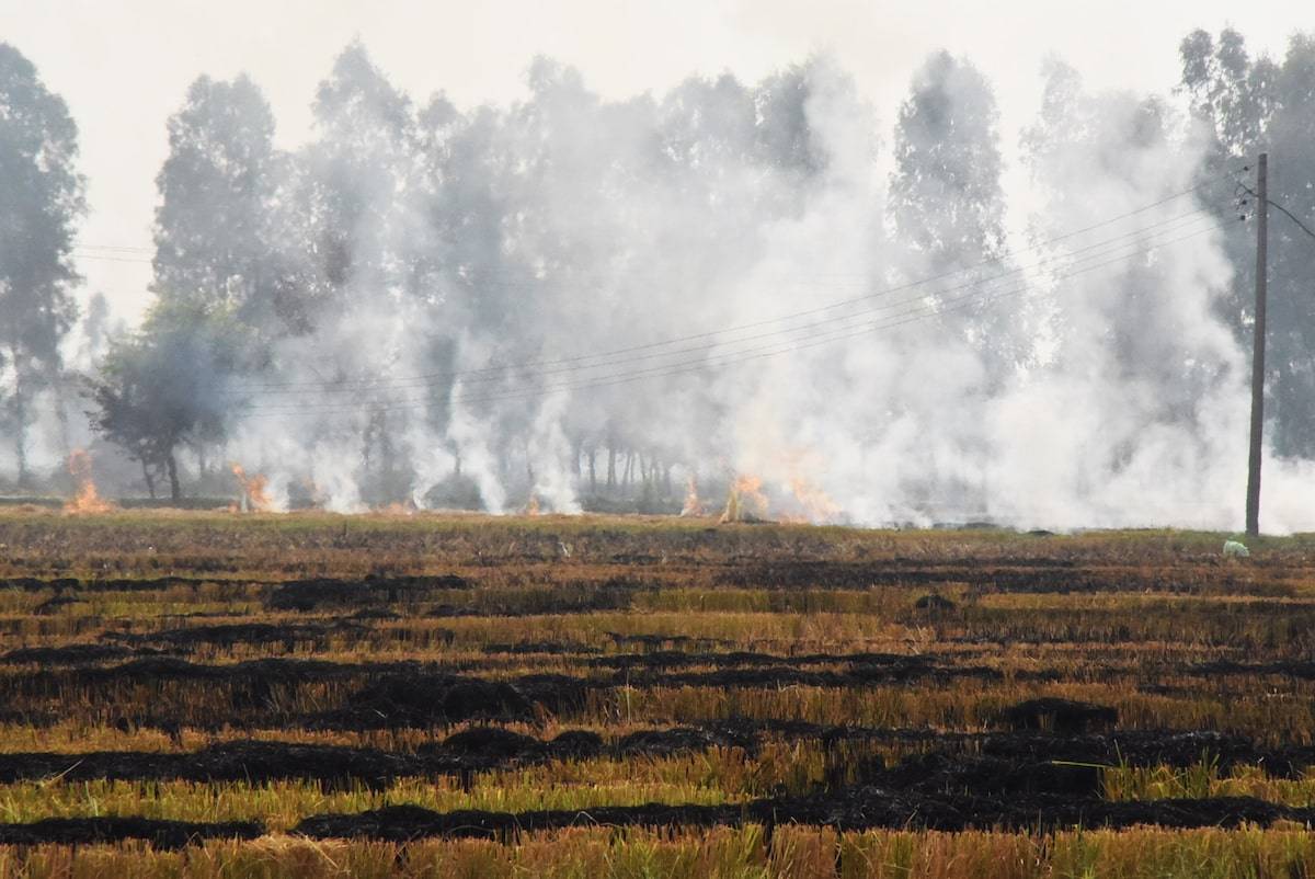
[[[1053,339],[1047,366],[1126,388],[1122,421],[1135,433],[1182,425],[1189,428],[1186,436],[1202,437],[1207,434],[1197,422],[1202,403],[1228,380],[1230,351],[1201,330],[1210,295],[1198,304],[1191,297],[1202,293],[1201,286],[1176,280],[1199,254],[1184,242],[1159,246],[1182,236],[1181,224],[1166,224],[1193,207],[1178,196],[1190,183],[1195,146],[1184,145],[1174,136],[1177,128],[1159,97],[1090,93],[1077,71],[1051,61],[1041,112],[1023,132],[1023,161],[1038,196],[1030,225],[1041,258],[1073,253],[1081,272],[1084,258],[1119,257],[1095,274],[1064,278],[1059,283],[1066,292],[1039,303],[1048,312],[1045,336]],[[1076,188],[1073,180],[1085,186]],[[1148,209],[1151,203],[1160,204]],[[1111,214],[1124,218],[1099,225]],[[1077,229],[1098,230],[1074,237]],[[1134,253],[1091,249],[1111,238],[1119,243],[1120,234],[1128,236],[1122,245]],[[1059,243],[1047,245],[1053,237]],[[1056,267],[1066,270],[1068,259]],[[1110,430],[1112,436],[1115,428]],[[1132,446],[1135,437],[1123,442]]]

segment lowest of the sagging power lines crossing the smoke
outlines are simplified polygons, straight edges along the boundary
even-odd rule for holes
[[[1107,266],[1123,263],[1123,262],[1126,262],[1128,259],[1128,257],[1136,255],[1137,253],[1151,253],[1153,250],[1157,250],[1157,249],[1161,249],[1161,247],[1165,247],[1165,246],[1169,246],[1169,245],[1173,245],[1173,243],[1178,243],[1178,242],[1186,241],[1189,238],[1195,238],[1198,236],[1206,234],[1208,232],[1214,232],[1214,230],[1220,229],[1220,228],[1222,226],[1219,226],[1218,224],[1212,224],[1208,228],[1198,229],[1197,232],[1181,236],[1180,238],[1174,238],[1172,241],[1165,241],[1165,242],[1161,242],[1161,243],[1157,243],[1157,245],[1151,245],[1151,246],[1143,246],[1139,250],[1134,251],[1132,254],[1122,254],[1119,257],[1115,257],[1112,259],[1107,259],[1105,262],[1101,262],[1101,263],[1097,263],[1097,264],[1093,264],[1093,266],[1086,266],[1086,267],[1080,268],[1080,270],[1074,270],[1074,271],[1070,271],[1070,272],[1066,272],[1066,274],[1056,275],[1055,279],[1056,280],[1063,280],[1063,279],[1068,279],[1068,278],[1074,278],[1074,276],[1078,276],[1078,275],[1088,274],[1090,271],[1095,271],[1098,268],[1103,268],[1103,267],[1107,267]],[[1014,289],[1009,289],[1009,291],[1005,291],[1002,293],[997,293],[994,296],[989,296],[986,299],[981,299],[980,295],[972,295],[970,293],[970,295],[967,295],[967,296],[960,296],[960,297],[956,297],[956,299],[947,300],[947,301],[952,303],[948,307],[943,307],[942,303],[932,304],[932,305],[930,305],[930,311],[927,311],[928,305],[923,304],[920,307],[915,307],[911,311],[907,311],[907,312],[903,312],[903,313],[899,313],[899,314],[888,316],[886,318],[884,318],[885,322],[871,322],[871,324],[867,324],[867,325],[863,325],[863,326],[859,326],[859,328],[843,328],[843,330],[832,330],[832,332],[830,332],[828,334],[825,334],[821,338],[814,338],[814,339],[810,339],[810,341],[806,341],[806,342],[802,342],[802,343],[796,343],[796,345],[789,345],[789,346],[764,346],[764,347],[756,349],[756,350],[751,349],[748,351],[739,351],[739,353],[735,353],[734,355],[722,355],[721,358],[709,358],[709,359],[701,359],[701,361],[689,362],[689,363],[665,364],[665,366],[660,366],[660,367],[652,367],[652,368],[648,368],[648,370],[638,370],[638,371],[633,371],[633,372],[629,372],[629,374],[621,374],[621,375],[610,376],[610,378],[606,378],[606,379],[589,380],[589,382],[583,382],[583,383],[577,382],[577,383],[573,383],[573,384],[550,386],[550,387],[546,387],[546,388],[531,388],[531,389],[522,389],[522,391],[514,391],[514,392],[506,392],[506,393],[498,393],[498,395],[487,395],[487,396],[452,395],[451,397],[448,397],[448,401],[454,401],[454,403],[485,403],[485,401],[494,401],[494,400],[527,399],[527,397],[546,396],[547,393],[555,393],[558,391],[594,389],[594,388],[602,388],[602,387],[613,387],[613,386],[617,386],[617,384],[627,384],[627,383],[633,383],[633,382],[638,382],[638,380],[643,380],[643,379],[650,379],[650,378],[665,378],[665,376],[673,376],[673,375],[684,375],[684,374],[690,374],[690,372],[697,372],[697,371],[706,370],[710,366],[711,367],[734,366],[734,364],[738,364],[738,363],[746,363],[746,362],[750,362],[750,361],[763,359],[763,358],[767,358],[767,357],[777,357],[780,354],[786,354],[786,353],[798,351],[798,350],[806,350],[806,349],[817,347],[819,345],[827,345],[827,343],[831,343],[831,342],[844,341],[847,338],[855,338],[855,337],[865,336],[865,334],[873,333],[873,332],[880,332],[880,330],[885,330],[885,329],[894,329],[897,326],[911,324],[914,321],[924,320],[924,318],[928,318],[928,317],[942,316],[942,314],[948,313],[948,312],[961,311],[961,309],[969,308],[969,307],[972,307],[974,304],[992,304],[992,303],[995,303],[995,301],[999,301],[999,300],[1003,300],[1003,299],[1009,299],[1011,296],[1016,296],[1016,295],[1024,293],[1028,289],[1031,289],[1031,286],[1027,284],[1027,283],[1023,283],[1023,284],[1015,287]],[[713,359],[725,359],[726,362],[725,363],[711,363],[710,361],[713,361]],[[430,403],[433,403],[433,401],[431,400],[425,400],[425,399],[389,400],[385,405],[372,405],[372,407],[368,407],[368,409],[371,412],[394,412],[394,411],[406,411],[406,409],[416,409],[416,408],[427,407]],[[276,409],[275,408],[270,408],[270,409],[254,409],[254,411],[249,411],[246,414],[247,414],[247,417],[287,417],[289,414],[301,414],[301,413],[308,413],[308,412],[327,414],[327,413],[339,413],[339,412],[356,413],[356,412],[360,412],[360,411],[362,411],[362,405],[359,405],[359,404],[358,405],[335,404],[335,405],[325,405],[325,407],[296,407],[296,408],[283,407],[283,408],[276,408]]]

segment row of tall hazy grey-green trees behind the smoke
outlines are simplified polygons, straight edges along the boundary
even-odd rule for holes
[[[1187,124],[1208,141],[1198,179],[1224,179],[1268,150],[1272,197],[1315,217],[1312,39],[1294,36],[1282,59],[1253,57],[1232,30],[1182,41]],[[548,418],[526,395],[562,383],[544,363],[613,339],[642,345],[650,326],[696,332],[696,318],[717,326],[743,313],[671,291],[734,286],[769,264],[764,217],[798,216],[842,163],[863,168],[881,149],[871,108],[830,66],[810,59],[759,83],[692,78],[608,101],[575,70],[538,59],[526,99],[460,111],[443,95],[414,101],[351,43],[316,91],[310,139],[293,150],[276,145],[251,79],[201,76],[168,120],[155,179],[151,305],[135,329],[105,336],[104,299],[91,299],[83,325],[101,338],[85,374],[70,375],[62,351],[79,320],[74,242],[85,212],[78,129],[33,63],[0,43],[0,401],[17,486],[34,482],[32,428],[49,405],[60,417],[85,409],[153,496],[180,499],[252,437],[333,455],[360,503],[438,488],[447,493],[435,503],[505,505],[489,497],[497,480],[468,474],[533,491],[563,478],[546,475],[544,459],[567,462],[564,478],[585,495],[684,493],[673,466],[715,467],[715,443],[671,436],[660,411],[707,409],[684,424],[718,425],[722,397],[659,376],[656,388],[569,393]],[[1055,214],[1081,199],[1082,182],[1066,178],[1076,150],[1118,167],[1177,124],[1161,99],[1090,96],[1059,63],[1043,75],[1022,153]],[[832,116],[867,121],[840,137],[818,124]],[[1111,117],[1116,137],[1103,130]],[[884,204],[868,218],[872,247],[897,253],[896,268],[861,280],[1007,261],[1001,137],[986,78],[964,58],[931,57],[898,109]],[[1252,241],[1235,203],[1211,205],[1233,270],[1220,317],[1244,342]],[[1270,234],[1273,442],[1315,458],[1315,247],[1282,222]],[[807,307],[810,278],[782,271],[772,282],[797,284]],[[1143,266],[1130,289],[1148,296],[1155,272]],[[702,311],[673,316],[671,301]],[[1194,380],[1190,358],[1148,354],[1143,330],[1120,320],[1047,329],[1045,314],[981,308],[959,332],[992,353],[986,388],[1040,357],[1035,336],[1080,332],[1105,334],[1128,368]],[[718,379],[710,366],[698,380]],[[302,488],[312,499],[326,490]]]

